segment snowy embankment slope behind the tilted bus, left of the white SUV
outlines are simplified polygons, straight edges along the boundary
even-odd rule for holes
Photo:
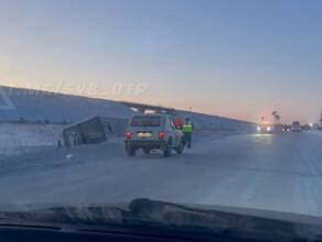
[[[26,121],[72,123],[95,116],[128,119],[133,113],[131,109],[116,101],[21,88],[0,87],[0,89],[14,107],[13,110],[0,109],[2,121],[18,121],[23,118]],[[6,105],[1,96],[0,105]]]

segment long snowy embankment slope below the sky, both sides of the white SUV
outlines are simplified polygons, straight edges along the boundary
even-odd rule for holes
[[[0,86],[0,92],[8,95],[12,102],[12,110],[0,110],[0,121],[45,121],[63,123],[78,122],[95,116],[105,118],[129,119],[136,112],[127,106],[111,100],[86,98],[80,96],[37,92],[21,88]],[[3,100],[0,95],[0,105]],[[174,116],[182,119],[190,117],[197,129],[225,129],[225,130],[256,130],[256,124],[187,111],[175,111]]]

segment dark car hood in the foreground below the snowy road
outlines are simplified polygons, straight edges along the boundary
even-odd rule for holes
[[[283,235],[314,239],[322,234],[320,217],[149,199],[115,205],[11,205],[7,210],[0,211],[0,224],[54,224],[87,230],[101,227],[106,229],[107,226],[112,224],[120,228],[162,228],[165,232],[175,230],[176,232],[227,233],[229,231],[232,233],[233,231],[235,235],[243,233],[256,238]]]

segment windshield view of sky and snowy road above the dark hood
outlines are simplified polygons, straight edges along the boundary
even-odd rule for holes
[[[0,0],[0,213],[322,218],[321,25],[319,0]]]

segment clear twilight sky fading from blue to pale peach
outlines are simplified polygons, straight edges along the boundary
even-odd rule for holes
[[[0,0],[0,85],[316,122],[321,29],[312,0]]]

